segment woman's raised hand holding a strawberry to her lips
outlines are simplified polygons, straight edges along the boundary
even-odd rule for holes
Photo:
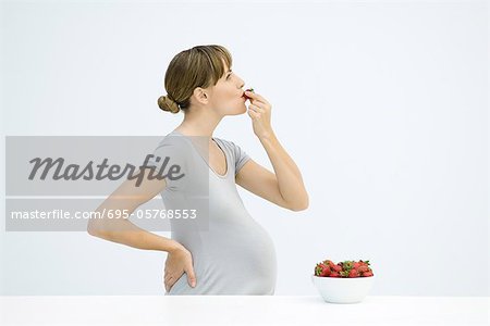
[[[246,90],[245,95],[250,98],[248,105],[248,116],[252,118],[254,133],[258,138],[272,135],[270,125],[270,111],[272,105],[260,95]]]

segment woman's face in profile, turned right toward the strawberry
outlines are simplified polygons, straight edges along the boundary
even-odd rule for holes
[[[243,114],[247,112],[242,89],[244,82],[226,64],[224,66],[224,75],[210,88],[209,104],[220,115]]]

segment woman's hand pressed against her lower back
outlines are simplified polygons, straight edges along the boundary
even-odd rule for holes
[[[164,269],[164,287],[169,292],[172,286],[184,274],[187,274],[187,283],[193,288],[196,286],[196,275],[194,274],[193,256],[184,246],[177,243],[175,249],[169,251]]]

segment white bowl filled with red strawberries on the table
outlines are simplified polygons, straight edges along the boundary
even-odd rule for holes
[[[311,280],[324,301],[357,303],[368,294],[375,275],[369,261],[324,260],[315,266]]]

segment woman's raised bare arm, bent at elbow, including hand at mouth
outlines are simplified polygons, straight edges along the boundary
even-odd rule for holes
[[[248,115],[254,133],[262,143],[274,173],[249,160],[236,174],[236,184],[261,198],[292,211],[308,208],[308,193],[299,168],[279,142],[270,124],[271,104],[260,95],[250,98]]]

